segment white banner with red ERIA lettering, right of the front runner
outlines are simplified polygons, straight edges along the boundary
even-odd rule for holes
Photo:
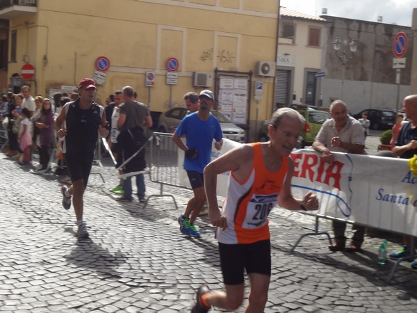
[[[292,192],[312,191],[318,215],[417,236],[417,178],[407,160],[333,152],[325,163],[313,150],[291,154]]]

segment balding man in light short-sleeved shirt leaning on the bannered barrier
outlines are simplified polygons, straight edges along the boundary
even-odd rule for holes
[[[365,136],[360,122],[347,115],[345,102],[335,100],[330,105],[330,115],[332,118],[325,121],[318,131],[313,149],[322,154],[322,158],[327,163],[333,162],[332,152],[345,152],[353,154],[364,154]],[[357,252],[361,250],[365,227],[354,225],[356,230],[349,246],[345,248],[346,223],[333,220],[333,232],[335,243],[329,246],[331,251],[345,250],[347,252]]]

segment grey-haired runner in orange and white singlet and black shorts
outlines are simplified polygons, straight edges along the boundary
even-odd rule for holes
[[[211,306],[235,311],[245,296],[245,271],[250,280],[247,313],[264,312],[271,275],[268,215],[275,204],[290,210],[318,209],[316,195],[291,195],[294,162],[288,157],[297,144],[304,118],[290,108],[278,109],[268,126],[268,143],[241,145],[204,168],[208,217],[218,227],[220,263],[225,291],[197,291],[192,313]],[[217,175],[231,172],[223,209],[216,196]]]

